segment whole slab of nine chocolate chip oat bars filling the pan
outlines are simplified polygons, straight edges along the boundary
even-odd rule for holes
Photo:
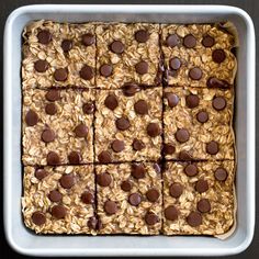
[[[230,229],[237,61],[222,24],[35,21],[22,37],[25,226]]]

